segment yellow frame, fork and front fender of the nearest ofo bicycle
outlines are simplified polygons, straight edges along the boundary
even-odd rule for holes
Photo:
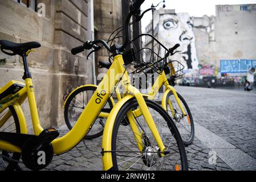
[[[115,78],[115,79],[113,79]],[[128,73],[124,68],[124,60],[122,55],[117,55],[114,57],[113,64],[111,68],[108,70],[107,74],[104,76],[103,80],[100,82],[99,86],[97,86],[97,90],[91,97],[91,100],[88,102],[86,108],[83,110],[82,114],[80,115],[78,121],[72,128],[70,132],[64,135],[61,138],[55,139],[51,144],[54,148],[54,154],[63,154],[71,150],[76,144],[78,144],[84,136],[87,134],[87,131],[90,129],[92,123],[94,123],[95,119],[98,117],[101,109],[104,107],[105,102],[107,102],[108,98],[111,96],[111,93],[115,89],[115,86],[121,80],[125,90],[127,91],[126,96],[122,98],[111,110],[111,113],[108,116],[107,122],[104,127],[103,133],[103,141],[102,141],[102,148],[104,152],[103,154],[103,169],[108,170],[113,167],[112,164],[112,130],[113,125],[116,119],[116,115],[121,109],[121,107],[132,98],[136,98],[140,108],[141,113],[143,114],[146,122],[148,123],[149,129],[151,129],[152,134],[160,148],[161,152],[165,152],[166,148],[164,143],[161,140],[160,134],[157,131],[155,122],[153,121],[152,115],[148,110],[147,104],[145,103],[143,95],[131,85],[129,81]],[[34,129],[34,134],[39,135],[43,128],[40,126],[40,121],[38,117],[38,111],[36,107],[35,95],[34,95],[34,86],[32,85],[31,78],[26,78],[25,80],[26,86],[22,90],[17,93],[19,100],[9,102],[4,107],[13,105],[16,113],[18,114],[18,118],[22,134],[27,134],[27,127],[26,127],[26,119],[22,112],[20,104],[25,100],[26,96],[29,100],[30,105],[30,112],[32,118],[32,125]],[[9,114],[10,117],[10,114]],[[131,118],[131,117],[129,117]],[[6,120],[7,121],[7,120]],[[1,123],[2,121],[0,121]],[[133,129],[136,131],[136,125],[133,125]],[[138,145],[140,151],[142,148]],[[13,152],[21,152],[21,148],[14,146],[13,144],[0,141],[0,150],[6,151],[13,151]],[[163,155],[163,154],[162,154]]]

